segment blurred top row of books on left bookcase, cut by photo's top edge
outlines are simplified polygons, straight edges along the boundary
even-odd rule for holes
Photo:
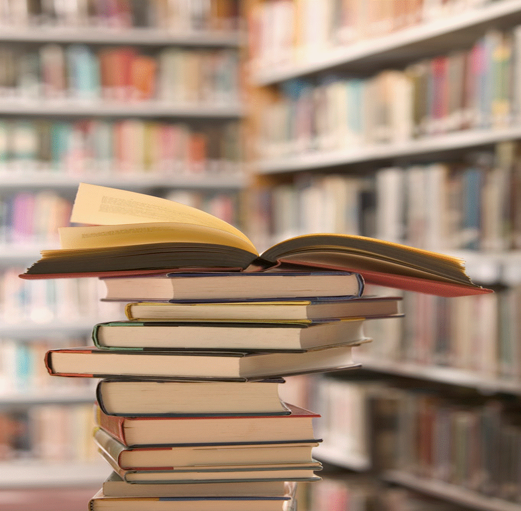
[[[170,30],[232,30],[237,0],[2,0],[0,24],[80,25]]]

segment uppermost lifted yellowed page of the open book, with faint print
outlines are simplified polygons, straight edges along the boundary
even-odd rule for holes
[[[172,200],[106,186],[80,183],[70,221],[91,225],[175,222],[206,226],[242,239],[249,245],[247,250],[257,253],[239,229],[214,215]]]

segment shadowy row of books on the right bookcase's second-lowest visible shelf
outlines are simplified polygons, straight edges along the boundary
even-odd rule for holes
[[[321,432],[345,437],[336,445],[337,456],[343,456],[346,464],[353,458],[343,446],[369,441],[371,466],[377,471],[400,470],[521,501],[521,429],[516,400],[499,401],[469,393],[444,396],[418,389],[416,384],[407,389],[403,382],[399,388],[392,383],[339,378],[330,383],[329,379],[333,378],[321,378],[315,390],[317,403],[326,398],[322,416],[333,418],[332,423],[324,421]],[[363,417],[367,428],[353,427],[345,402],[337,400],[342,389],[352,396],[349,412]],[[342,422],[343,431],[339,429]],[[357,423],[361,424],[355,420]]]

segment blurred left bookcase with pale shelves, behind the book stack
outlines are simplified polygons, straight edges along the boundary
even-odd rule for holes
[[[92,388],[49,382],[43,353],[56,341],[84,344],[95,323],[122,310],[98,305],[90,279],[70,289],[16,279],[42,248],[57,245],[51,231],[63,225],[78,183],[154,190],[233,223],[248,184],[239,2],[185,2],[175,12],[151,0],[85,6],[16,0],[0,8],[1,67],[16,62],[0,78],[0,287],[9,295],[0,300],[0,353],[10,361],[0,364],[0,423],[43,437],[3,438],[0,488],[99,487],[110,472],[86,444]],[[106,66],[105,58],[115,60]],[[132,80],[134,65],[143,67]],[[119,71],[127,78],[115,85]],[[18,225],[17,214],[25,219]],[[63,310],[51,299],[61,293],[75,297]],[[65,424],[55,425],[56,438],[53,415]]]

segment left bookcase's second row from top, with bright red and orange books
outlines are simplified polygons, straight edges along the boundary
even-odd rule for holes
[[[0,47],[0,93],[170,103],[229,103],[239,96],[238,54],[229,49],[46,44],[35,50]]]

